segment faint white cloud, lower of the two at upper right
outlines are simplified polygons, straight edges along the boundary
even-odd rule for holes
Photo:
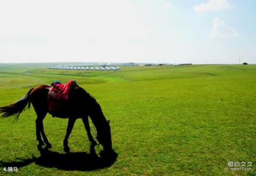
[[[228,37],[238,37],[238,32],[226,24],[225,20],[219,18],[213,19],[213,25],[210,29],[209,37],[213,38],[228,38]]]

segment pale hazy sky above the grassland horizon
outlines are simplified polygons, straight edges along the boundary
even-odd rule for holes
[[[0,62],[256,63],[255,0],[0,0]]]

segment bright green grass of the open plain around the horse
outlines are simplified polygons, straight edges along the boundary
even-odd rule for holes
[[[117,162],[105,169],[63,171],[31,163],[19,167],[19,174],[256,173],[256,65],[127,67],[119,71],[7,66],[0,65],[0,106],[20,99],[31,86],[76,79],[111,120],[113,148],[119,154]],[[46,116],[44,128],[52,151],[63,153],[66,126],[67,119]],[[39,156],[35,139],[33,108],[25,111],[18,122],[1,119],[0,160]],[[74,126],[69,146],[73,152],[89,151],[81,120]],[[252,171],[230,171],[229,161],[252,162]]]

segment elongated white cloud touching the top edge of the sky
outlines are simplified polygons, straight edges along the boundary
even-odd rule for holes
[[[227,0],[209,0],[207,3],[198,4],[193,7],[194,11],[198,13],[217,12],[225,9],[230,9],[231,6]]]

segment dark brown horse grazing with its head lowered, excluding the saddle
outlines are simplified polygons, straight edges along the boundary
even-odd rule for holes
[[[93,139],[90,131],[90,116],[97,130],[96,139],[103,146],[103,151],[114,151],[112,149],[109,121],[107,121],[105,116],[103,115],[99,103],[84,89],[78,87],[78,89],[73,90],[73,98],[63,103],[61,111],[49,111],[47,107],[47,96],[50,87],[50,85],[40,85],[32,88],[18,102],[13,103],[9,106],[1,107],[0,113],[2,113],[2,117],[15,116],[15,119],[18,120],[19,115],[22,113],[22,111],[25,110],[27,106],[28,108],[30,107],[31,102],[37,115],[36,139],[38,141],[38,149],[42,149],[44,143],[46,144],[46,148],[51,147],[51,143],[48,141],[44,133],[43,119],[46,114],[50,113],[55,117],[68,118],[67,133],[63,141],[64,150],[66,152],[69,152],[68,137],[73,129],[74,123],[77,118],[82,118],[89,141],[91,142],[90,153],[95,153],[94,146],[97,145],[97,142],[95,142],[95,140]],[[43,140],[41,138],[41,134]]]

